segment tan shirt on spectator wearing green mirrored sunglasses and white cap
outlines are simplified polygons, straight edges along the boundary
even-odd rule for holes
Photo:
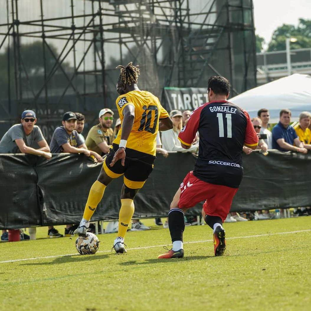
[[[88,132],[85,139],[87,149],[102,155],[103,151],[101,151],[100,147],[97,145],[99,145],[101,142],[106,142],[108,145],[111,145],[113,133],[114,130],[112,128],[108,128],[106,132],[104,132],[104,129],[100,124],[94,125]]]

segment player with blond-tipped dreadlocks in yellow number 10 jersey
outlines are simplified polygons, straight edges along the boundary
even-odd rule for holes
[[[126,253],[124,237],[134,214],[134,197],[142,188],[153,169],[156,158],[156,134],[173,128],[172,120],[161,106],[159,99],[147,91],[139,90],[138,66],[132,62],[120,68],[116,100],[121,120],[121,129],[107,155],[100,174],[93,183],[86,202],[83,218],[75,234],[85,236],[89,221],[106,186],[123,175],[121,209],[119,212],[118,236],[114,240],[116,253]]]

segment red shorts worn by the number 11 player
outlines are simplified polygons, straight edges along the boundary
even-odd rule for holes
[[[205,213],[210,216],[218,216],[225,221],[238,188],[207,183],[195,177],[191,171],[180,184],[180,190],[179,208],[193,207],[206,200],[203,204]]]

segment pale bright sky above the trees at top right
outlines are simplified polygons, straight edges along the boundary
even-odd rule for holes
[[[255,32],[266,44],[273,31],[283,24],[298,24],[299,18],[311,19],[311,0],[253,0]]]

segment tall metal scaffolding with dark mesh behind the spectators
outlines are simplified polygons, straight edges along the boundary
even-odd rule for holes
[[[252,0],[31,3],[0,0],[7,123],[36,109],[50,136],[66,110],[114,108],[115,67],[130,61],[140,65],[140,88],[158,96],[163,86],[206,87],[212,74],[227,77],[233,93],[256,85]]]

